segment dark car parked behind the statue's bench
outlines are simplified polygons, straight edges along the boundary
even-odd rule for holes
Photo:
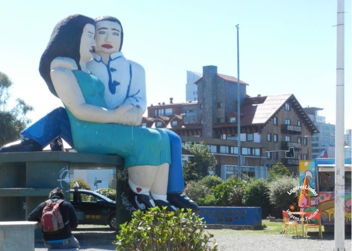
[[[93,191],[71,189],[70,202],[78,224],[109,225],[116,229],[116,201]]]

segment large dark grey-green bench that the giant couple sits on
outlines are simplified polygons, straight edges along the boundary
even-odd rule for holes
[[[73,169],[116,169],[116,221],[117,225],[124,223],[131,212],[123,205],[123,186],[127,181],[123,166],[123,159],[113,155],[58,151],[0,153],[0,221],[26,220],[55,187],[63,190],[69,202]],[[40,231],[35,234],[37,239],[42,238]]]

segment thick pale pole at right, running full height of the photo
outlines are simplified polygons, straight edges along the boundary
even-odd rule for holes
[[[337,0],[335,251],[344,250],[344,0]]]

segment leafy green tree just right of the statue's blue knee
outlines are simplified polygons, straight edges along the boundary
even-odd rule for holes
[[[198,178],[203,178],[209,175],[209,171],[215,169],[217,164],[215,156],[209,152],[208,146],[204,142],[200,143],[186,143],[185,148],[190,151],[194,157],[191,157],[191,162],[186,166],[188,170],[186,172],[190,172],[189,177],[196,177],[195,174],[198,175]]]

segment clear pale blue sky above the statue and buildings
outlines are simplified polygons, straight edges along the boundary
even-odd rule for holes
[[[99,3],[98,3],[99,2]],[[150,103],[186,99],[186,71],[216,65],[237,76],[250,96],[293,93],[303,107],[324,108],[335,123],[336,0],[6,1],[0,11],[0,71],[13,97],[39,119],[61,105],[39,75],[40,56],[55,24],[71,14],[120,19],[122,51],[144,66]],[[345,0],[345,129],[351,124],[351,6]]]

